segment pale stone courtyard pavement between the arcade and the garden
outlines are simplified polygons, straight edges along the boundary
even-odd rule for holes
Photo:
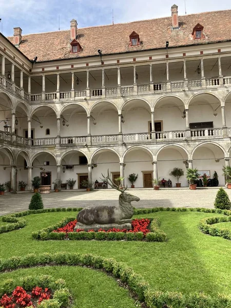
[[[231,189],[225,189],[231,199]],[[130,194],[140,197],[132,202],[137,208],[145,207],[210,207],[213,208],[218,188],[189,189],[128,189]],[[42,195],[44,207],[86,207],[89,205],[118,204],[120,192],[114,189],[64,190]],[[28,209],[32,192],[0,196],[0,215]]]

